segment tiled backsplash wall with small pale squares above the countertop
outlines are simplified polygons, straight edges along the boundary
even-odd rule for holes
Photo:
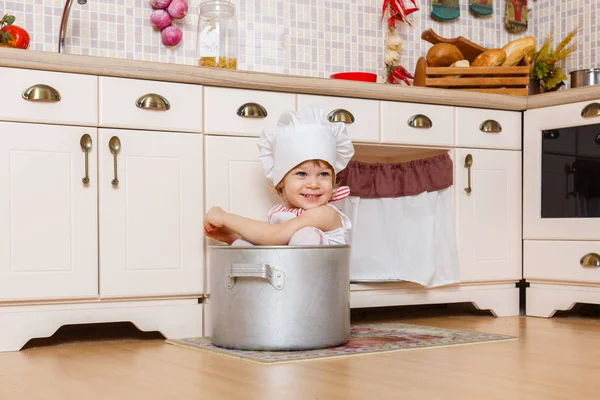
[[[188,0],[189,14],[176,22],[183,31],[175,49],[162,45],[160,33],[150,25],[149,0],[73,1],[66,52],[180,64],[196,64],[196,6]],[[0,0],[0,12],[10,12],[32,36],[34,50],[57,50],[60,18],[65,0]],[[307,76],[329,76],[339,71],[381,73],[384,27],[383,0],[237,0],[239,63],[245,70]],[[408,0],[406,0],[408,2]],[[438,22],[429,15],[430,0],[417,0],[421,11],[412,14],[413,27],[400,24],[404,39],[401,64],[413,70],[429,43],[421,32],[432,28],[444,37],[465,36],[485,47],[499,47],[518,36],[538,41],[555,28],[556,43],[580,24],[577,54],[566,70],[600,67],[600,2],[597,0],[529,1],[529,30],[521,35],[504,29],[505,0],[494,1],[490,17],[476,17],[468,1],[460,2],[461,16]],[[560,22],[559,22],[560,21]]]

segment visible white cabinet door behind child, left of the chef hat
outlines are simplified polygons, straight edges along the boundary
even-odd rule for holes
[[[269,187],[258,157],[258,139],[206,137],[206,208],[265,220],[269,210],[281,202]]]

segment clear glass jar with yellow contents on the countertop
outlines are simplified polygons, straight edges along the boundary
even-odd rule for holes
[[[201,67],[237,69],[237,18],[229,0],[198,5],[196,56]]]

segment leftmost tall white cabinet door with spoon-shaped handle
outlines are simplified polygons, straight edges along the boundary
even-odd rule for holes
[[[0,301],[98,295],[96,137],[0,122]]]

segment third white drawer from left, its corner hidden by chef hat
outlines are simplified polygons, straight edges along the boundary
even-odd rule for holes
[[[282,113],[296,110],[296,95],[207,87],[204,89],[204,132],[208,134],[260,136],[265,128],[274,128]],[[251,112],[256,103],[266,116],[244,117],[238,110]]]

